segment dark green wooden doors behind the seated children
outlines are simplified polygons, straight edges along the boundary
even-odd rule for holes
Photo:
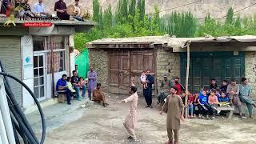
[[[236,79],[238,83],[245,75],[244,53],[234,55],[232,52],[191,53],[189,90],[192,92],[201,90],[202,87],[209,89],[210,79],[215,78],[218,86],[223,79],[230,81]],[[186,54],[181,54],[181,77],[182,84],[186,79]],[[191,78],[192,77],[192,78]]]

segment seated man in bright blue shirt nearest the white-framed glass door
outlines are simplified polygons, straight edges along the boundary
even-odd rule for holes
[[[71,90],[66,86],[66,74],[63,74],[62,78],[58,79],[56,90],[66,90],[66,101],[68,105],[71,105]]]

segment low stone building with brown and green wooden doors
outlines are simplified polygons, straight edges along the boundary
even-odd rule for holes
[[[179,77],[185,85],[186,42],[190,44],[189,90],[198,91],[210,86],[210,79],[235,78],[238,83],[246,77],[256,94],[255,71],[256,37],[235,36],[220,38],[170,38],[150,36],[140,38],[106,38],[87,43],[90,65],[98,72],[98,82],[110,93],[126,94],[130,78],[142,92],[139,76],[150,69],[155,78],[157,94],[162,75]],[[254,96],[254,98],[256,98]]]

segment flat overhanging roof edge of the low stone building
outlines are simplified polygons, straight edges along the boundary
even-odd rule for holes
[[[218,38],[171,38],[170,36],[148,36],[136,38],[103,38],[88,42],[90,49],[127,49],[127,48],[162,48],[172,49],[173,52],[186,51],[184,47],[190,42],[191,51],[256,51],[256,36],[234,36]],[[147,46],[141,46],[143,44]],[[137,47],[136,47],[137,46]]]

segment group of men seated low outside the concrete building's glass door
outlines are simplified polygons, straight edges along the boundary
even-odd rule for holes
[[[106,95],[102,92],[101,83],[97,83],[97,87],[93,90],[93,101],[102,102],[102,105],[106,107]],[[57,92],[64,90],[66,94],[66,101],[68,105],[71,105],[71,96],[75,93],[75,97],[81,101],[80,90],[82,90],[82,98],[86,100],[86,82],[82,77],[78,77],[76,70],[73,71],[73,76],[67,77],[66,74],[62,75],[56,84]]]

